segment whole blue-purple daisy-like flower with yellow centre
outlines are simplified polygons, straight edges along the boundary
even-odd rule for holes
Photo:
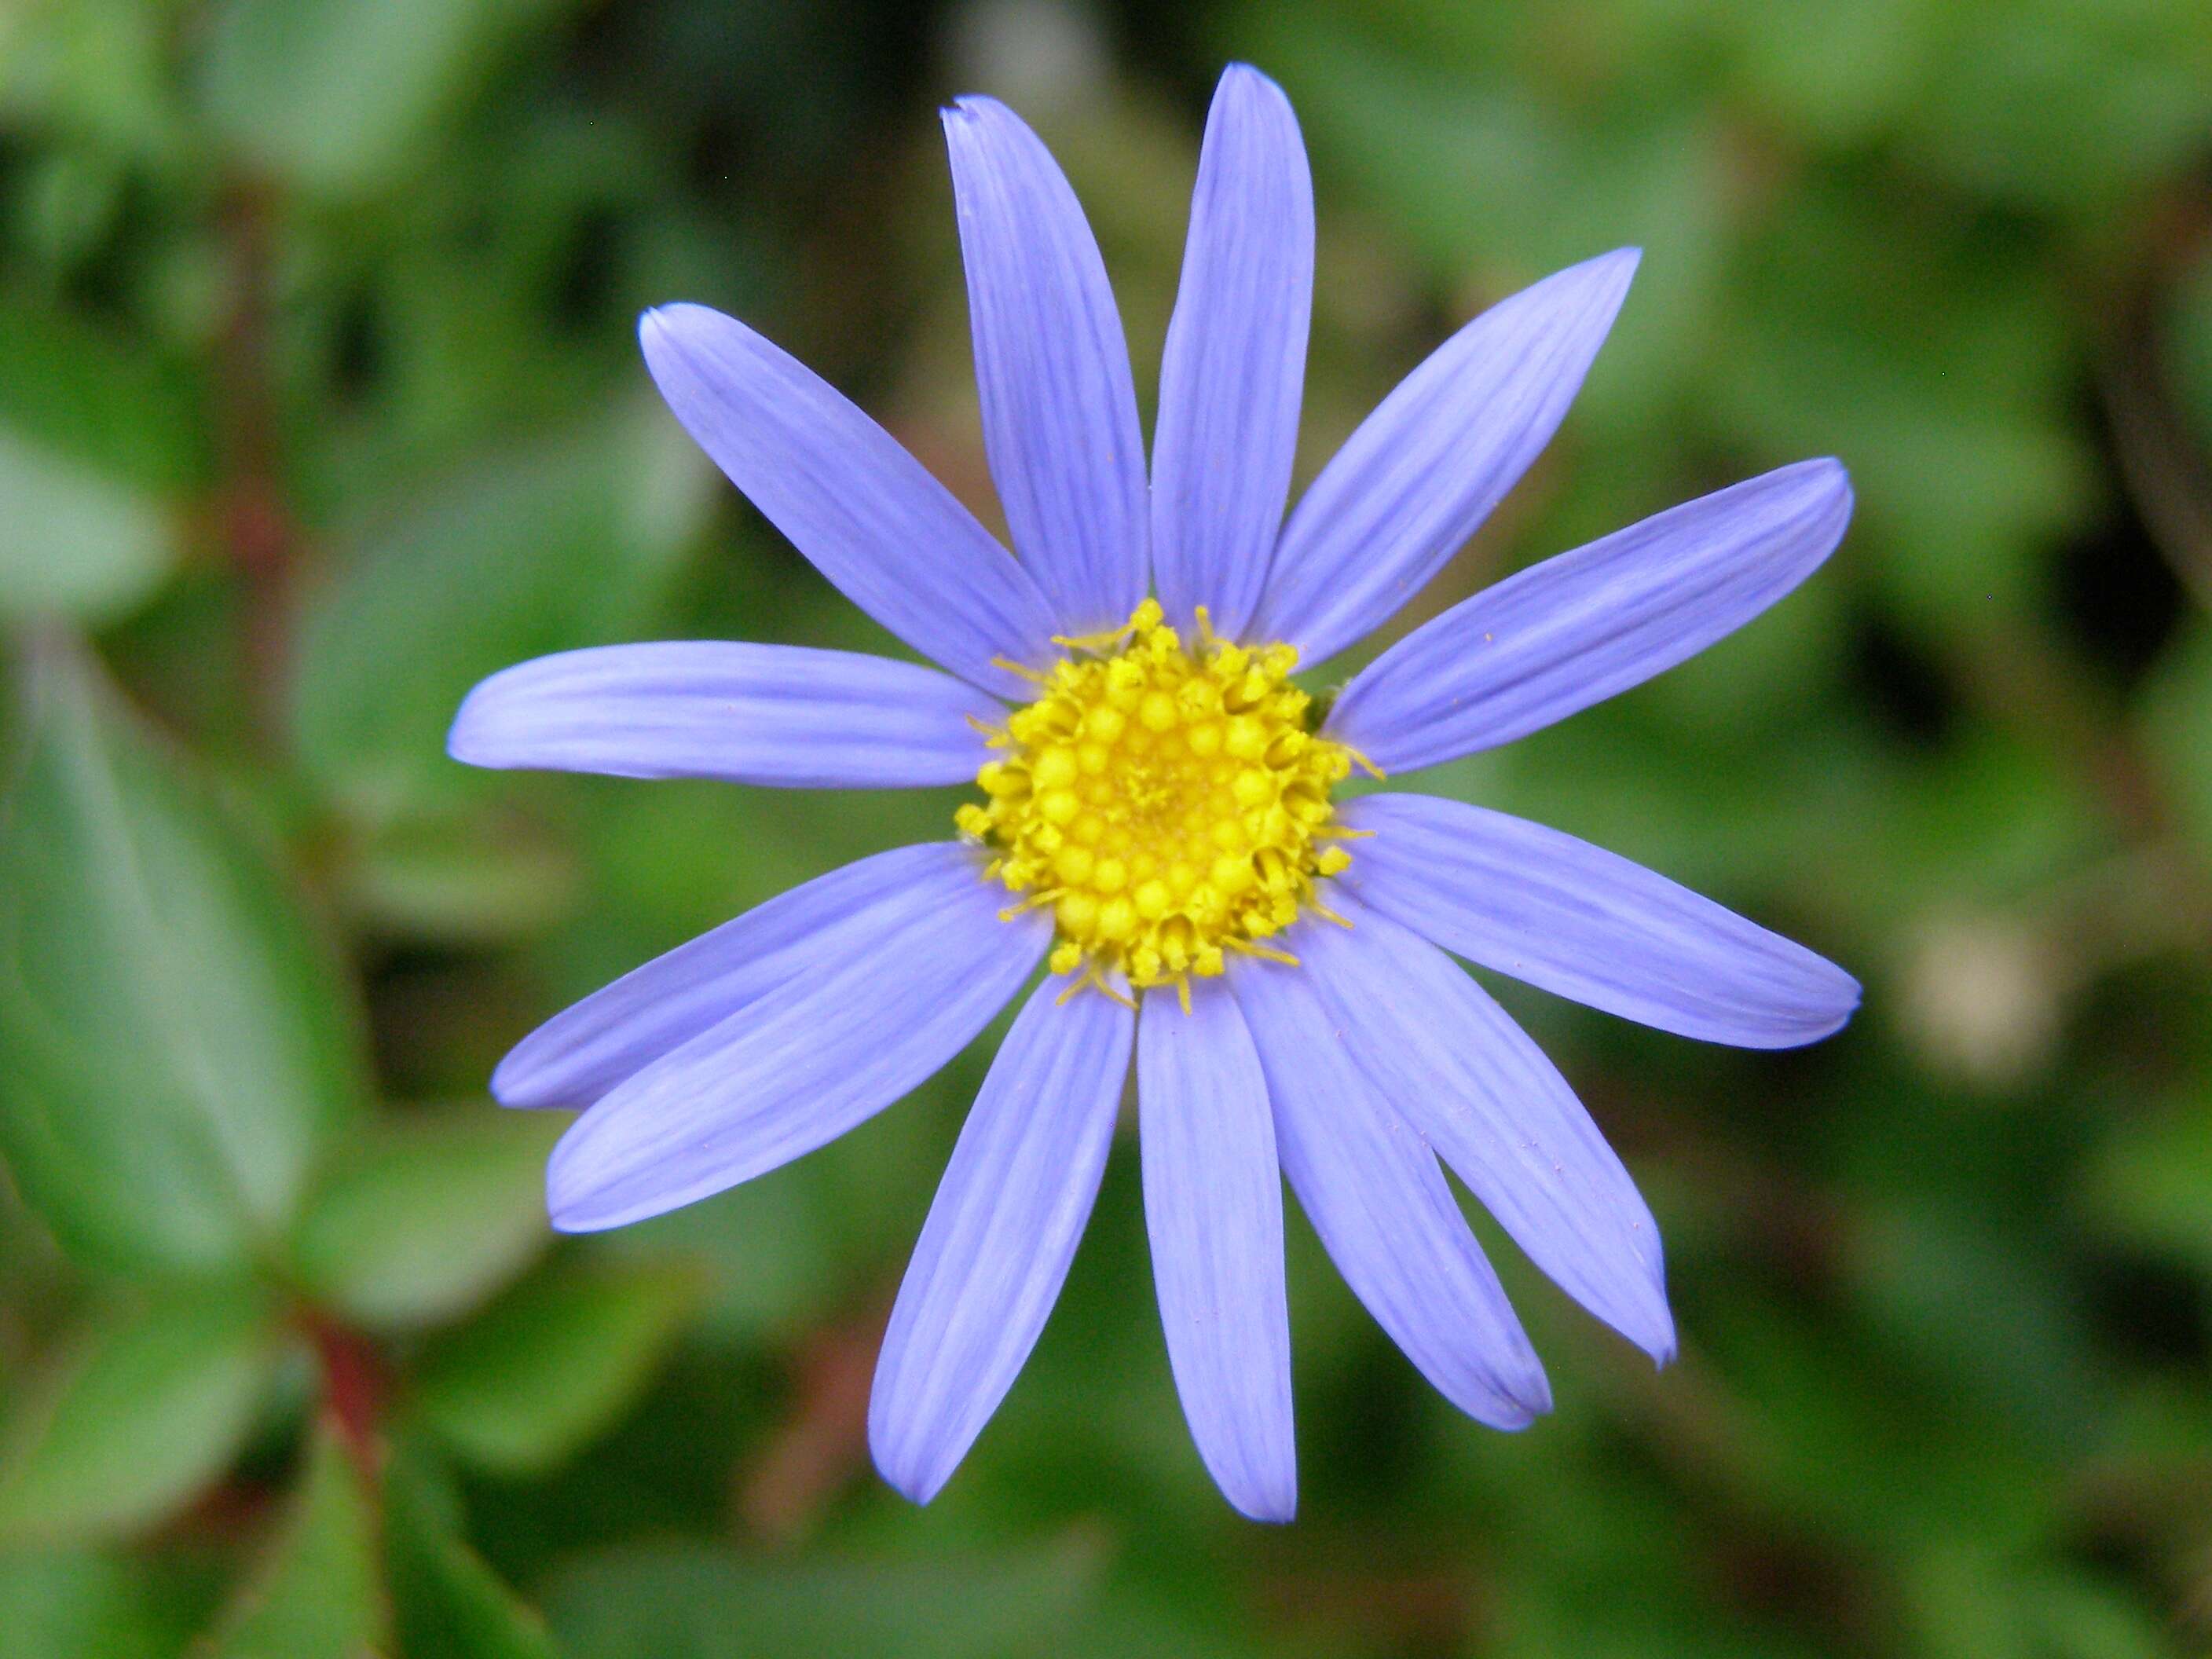
[[[1314,272],[1283,93],[1230,69],[1199,157],[1150,476],[1128,349],[1073,190],[1004,106],[945,113],[984,447],[1013,553],[860,409],[699,305],[644,316],[670,409],[867,615],[940,668],[644,644],[478,686],[476,765],[799,787],[975,781],[947,841],[783,894],[586,998],[498,1068],[582,1115],[564,1230],[655,1217],[911,1091],[1024,984],[891,1312],[869,1407],[927,1502],[1060,1292],[1135,1055],[1168,1356],[1228,1500],[1296,1504],[1276,1170],[1398,1347],[1500,1429],[1544,1369],[1444,1166],[1597,1318],[1674,1352],[1659,1230],[1621,1161],[1453,962],[1710,1042],[1783,1048],[1840,969],[1573,836],[1418,792],[1703,650],[1803,582],[1851,513],[1812,460],[1526,568],[1422,624],[1318,717],[1290,679],[1383,624],[1535,460],[1637,263],[1467,323],[1285,518]]]

